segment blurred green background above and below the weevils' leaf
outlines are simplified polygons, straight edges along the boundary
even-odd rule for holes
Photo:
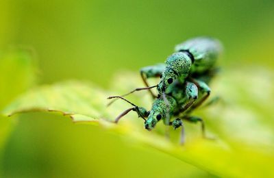
[[[0,51],[32,51],[38,84],[73,78],[111,88],[117,71],[138,73],[142,66],[164,62],[175,44],[206,35],[223,42],[224,70],[250,65],[272,71],[273,19],[271,0],[0,0]],[[23,114],[12,124],[0,149],[4,177],[210,176],[62,116]],[[148,164],[155,169],[145,168]]]

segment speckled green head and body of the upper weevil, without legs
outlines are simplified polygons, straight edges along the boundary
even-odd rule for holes
[[[199,37],[178,44],[175,51],[176,53],[166,60],[166,68],[158,84],[160,94],[165,92],[175,79],[184,83],[189,75],[203,75],[210,71],[221,53],[221,44],[214,38]]]

